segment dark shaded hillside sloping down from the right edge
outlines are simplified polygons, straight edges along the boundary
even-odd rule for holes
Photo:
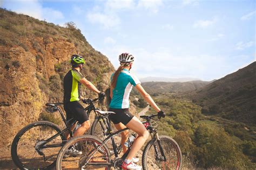
[[[190,92],[204,114],[256,125],[256,62]]]

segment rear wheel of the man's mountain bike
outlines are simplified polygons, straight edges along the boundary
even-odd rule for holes
[[[44,133],[38,133],[38,130],[40,132],[44,131]],[[11,145],[11,157],[15,165],[20,169],[50,169],[54,167],[60,147],[43,148],[41,151],[45,154],[45,158],[48,159],[46,161],[44,161],[42,155],[38,154],[35,147],[44,139],[49,139],[60,132],[62,132],[60,128],[49,121],[36,121],[23,127],[16,134]],[[64,140],[65,137],[62,134],[48,144],[63,143]]]

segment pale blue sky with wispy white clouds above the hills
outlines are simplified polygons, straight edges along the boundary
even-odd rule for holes
[[[219,79],[256,59],[253,0],[0,0],[0,5],[60,26],[74,22],[114,67],[120,53],[132,53],[139,78]]]

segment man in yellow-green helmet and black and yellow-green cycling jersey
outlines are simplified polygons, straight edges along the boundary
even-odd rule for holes
[[[80,96],[80,86],[85,85],[91,91],[98,93],[99,98],[104,98],[105,93],[100,92],[90,81],[88,81],[80,71],[83,69],[85,60],[82,56],[72,55],[71,64],[72,69],[66,73],[63,80],[64,86],[64,110],[66,112],[66,120],[75,118],[81,126],[75,131],[73,137],[83,135],[90,128],[90,120],[87,117],[87,113],[84,111],[84,107],[79,103],[82,99]],[[75,128],[76,124],[71,127],[71,131]],[[69,133],[65,134],[66,139],[69,139]],[[73,156],[80,155],[82,152],[77,151],[74,147],[68,149],[66,154]]]

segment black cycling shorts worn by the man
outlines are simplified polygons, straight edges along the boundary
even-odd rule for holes
[[[66,120],[75,118],[80,124],[83,124],[85,121],[89,120],[84,107],[78,101],[64,103],[64,110],[66,112]]]

